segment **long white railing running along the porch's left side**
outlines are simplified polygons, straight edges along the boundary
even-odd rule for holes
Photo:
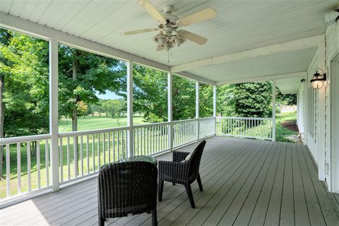
[[[171,127],[172,145],[178,148],[196,141],[198,134],[199,138],[213,136],[215,118],[133,126],[133,155],[155,155],[170,150]],[[60,184],[96,174],[102,165],[127,157],[128,131],[129,126],[124,126],[59,133]],[[0,139],[6,155],[6,181],[0,181],[1,200],[51,188],[50,139],[49,134]],[[11,169],[13,162],[16,167]]]

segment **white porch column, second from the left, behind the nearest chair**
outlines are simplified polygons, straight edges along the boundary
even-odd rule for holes
[[[127,61],[127,156],[134,155],[133,135],[133,62]]]

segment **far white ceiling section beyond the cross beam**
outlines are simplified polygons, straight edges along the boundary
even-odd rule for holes
[[[206,66],[188,72],[216,81],[218,84],[238,80],[251,81],[251,78],[307,71],[315,52],[316,47],[313,47]]]

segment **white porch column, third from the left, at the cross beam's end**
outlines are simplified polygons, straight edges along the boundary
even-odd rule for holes
[[[169,151],[173,150],[173,94],[172,94],[172,81],[173,74],[171,72],[167,73],[167,118],[169,122],[168,126],[168,148]]]

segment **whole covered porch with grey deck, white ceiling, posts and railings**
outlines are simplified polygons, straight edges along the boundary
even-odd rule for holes
[[[170,52],[157,52],[148,42],[153,36],[121,37],[120,32],[154,23],[136,1],[1,5],[1,28],[49,43],[49,131],[0,138],[6,156],[0,224],[97,225],[97,173],[102,165],[134,155],[172,160],[173,150],[191,152],[206,140],[200,167],[204,190],[198,191],[196,182],[192,186],[196,208],[190,207],[184,186],[165,182],[163,200],[157,203],[159,225],[338,225],[339,22],[336,18],[326,28],[321,22],[326,13],[337,12],[338,1],[307,6],[301,1],[152,2],[158,11],[174,6],[180,18],[215,8],[215,20],[191,26],[208,37],[207,44],[187,42],[169,58]],[[64,8],[70,9],[65,13]],[[277,8],[282,10],[274,13]],[[126,126],[59,131],[60,44],[124,62]],[[165,121],[133,123],[136,64],[165,73]],[[309,81],[319,69],[328,77],[314,89]],[[173,119],[174,76],[193,80],[190,119]],[[218,85],[258,81],[272,81],[271,116],[218,115]],[[210,117],[199,112],[201,83],[213,87]],[[297,94],[302,144],[275,142],[276,87]],[[32,143],[38,144],[35,156]],[[150,215],[108,219],[105,225],[150,225]]]

